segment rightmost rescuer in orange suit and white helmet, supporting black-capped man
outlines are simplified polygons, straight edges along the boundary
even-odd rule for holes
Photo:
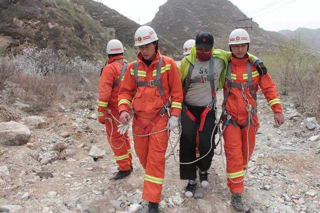
[[[248,62],[249,43],[249,35],[244,29],[234,29],[230,33],[228,44],[232,56],[228,63],[222,103],[227,185],[232,193],[231,204],[239,211],[244,209],[241,200],[244,170],[247,168],[247,159],[250,159],[253,152],[255,133],[259,127],[256,113],[258,86],[273,110],[275,123],[284,123],[279,95],[270,75],[266,73],[261,76],[256,67]]]

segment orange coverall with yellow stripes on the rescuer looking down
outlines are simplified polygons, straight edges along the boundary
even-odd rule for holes
[[[138,61],[138,81],[155,80],[156,66],[160,58],[160,51],[157,51],[155,59],[147,66],[142,61],[142,54],[139,52],[136,60]],[[131,110],[131,101],[134,97],[132,106],[134,116],[132,131],[135,134],[145,134],[144,129],[136,124],[135,119],[147,126],[156,116],[164,103],[160,96],[157,86],[136,86],[133,75],[132,62],[125,72],[122,86],[119,90],[119,112]],[[171,97],[171,115],[179,117],[182,102],[182,85],[178,68],[172,58],[162,56],[161,62],[161,85],[165,96]],[[135,92],[135,93],[134,93]],[[166,127],[168,116],[166,113],[154,124],[150,132],[162,130]],[[151,202],[161,201],[161,190],[164,180],[165,169],[165,150],[168,145],[167,131],[148,135],[134,136],[134,150],[145,169],[142,199]]]

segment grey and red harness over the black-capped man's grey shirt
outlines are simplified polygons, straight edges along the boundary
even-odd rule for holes
[[[185,104],[182,105],[182,110],[188,115],[188,117],[193,121],[193,122],[200,122],[198,126],[198,131],[202,131],[205,117],[207,113],[212,109],[212,107],[215,108],[215,102],[216,102],[216,97],[215,97],[215,89],[214,89],[214,79],[213,79],[213,68],[214,68],[214,62],[213,62],[213,57],[210,57],[209,59],[209,73],[208,75],[203,75],[200,77],[196,77],[191,79],[192,75],[192,70],[194,66],[192,63],[189,65],[188,69],[188,75],[187,77],[184,78],[184,83],[183,83],[183,99],[186,96],[187,90],[190,86],[190,83],[205,83],[205,82],[210,82],[211,86],[211,94],[212,94],[212,100],[209,102],[205,109],[202,111],[199,120],[197,120],[194,115],[190,112],[190,110],[185,106]]]

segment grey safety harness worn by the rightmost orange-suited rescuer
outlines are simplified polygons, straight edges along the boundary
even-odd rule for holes
[[[255,128],[255,125],[253,123],[253,120],[252,120],[252,117],[251,116],[248,116],[248,119],[246,120],[246,122],[242,125],[239,125],[234,119],[232,119],[232,117],[230,116],[230,114],[228,112],[225,111],[225,104],[226,104],[226,101],[227,101],[227,98],[228,98],[228,95],[230,93],[230,89],[231,87],[234,87],[234,88],[238,88],[238,89],[241,89],[241,92],[242,92],[242,96],[244,98],[244,101],[245,104],[246,104],[246,111],[248,111],[248,113],[251,113],[252,115],[255,115],[256,114],[256,93],[254,91],[254,88],[253,88],[253,81],[252,81],[252,70],[251,70],[251,64],[250,62],[248,61],[247,64],[246,64],[246,67],[247,67],[247,81],[244,82],[244,83],[234,83],[232,82],[232,79],[231,79],[231,62],[229,61],[228,62],[228,67],[227,67],[227,71],[226,71],[226,77],[227,77],[227,89],[225,91],[225,95],[224,95],[224,99],[223,99],[223,102],[222,102],[222,113],[221,113],[221,119],[223,117],[226,117],[226,120],[224,122],[224,125],[226,126],[229,122],[231,122],[234,127],[236,126],[239,126],[241,129],[244,128],[245,126],[248,125],[248,123],[250,122],[252,124],[252,126]],[[251,110],[251,105],[249,104],[247,98],[246,98],[246,95],[245,95],[245,91],[244,89],[249,87],[249,90],[250,90],[250,93],[253,97],[253,99],[255,100],[255,104]]]

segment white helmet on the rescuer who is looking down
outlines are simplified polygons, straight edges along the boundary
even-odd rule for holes
[[[141,46],[158,40],[151,26],[140,26],[134,33],[134,46]]]

